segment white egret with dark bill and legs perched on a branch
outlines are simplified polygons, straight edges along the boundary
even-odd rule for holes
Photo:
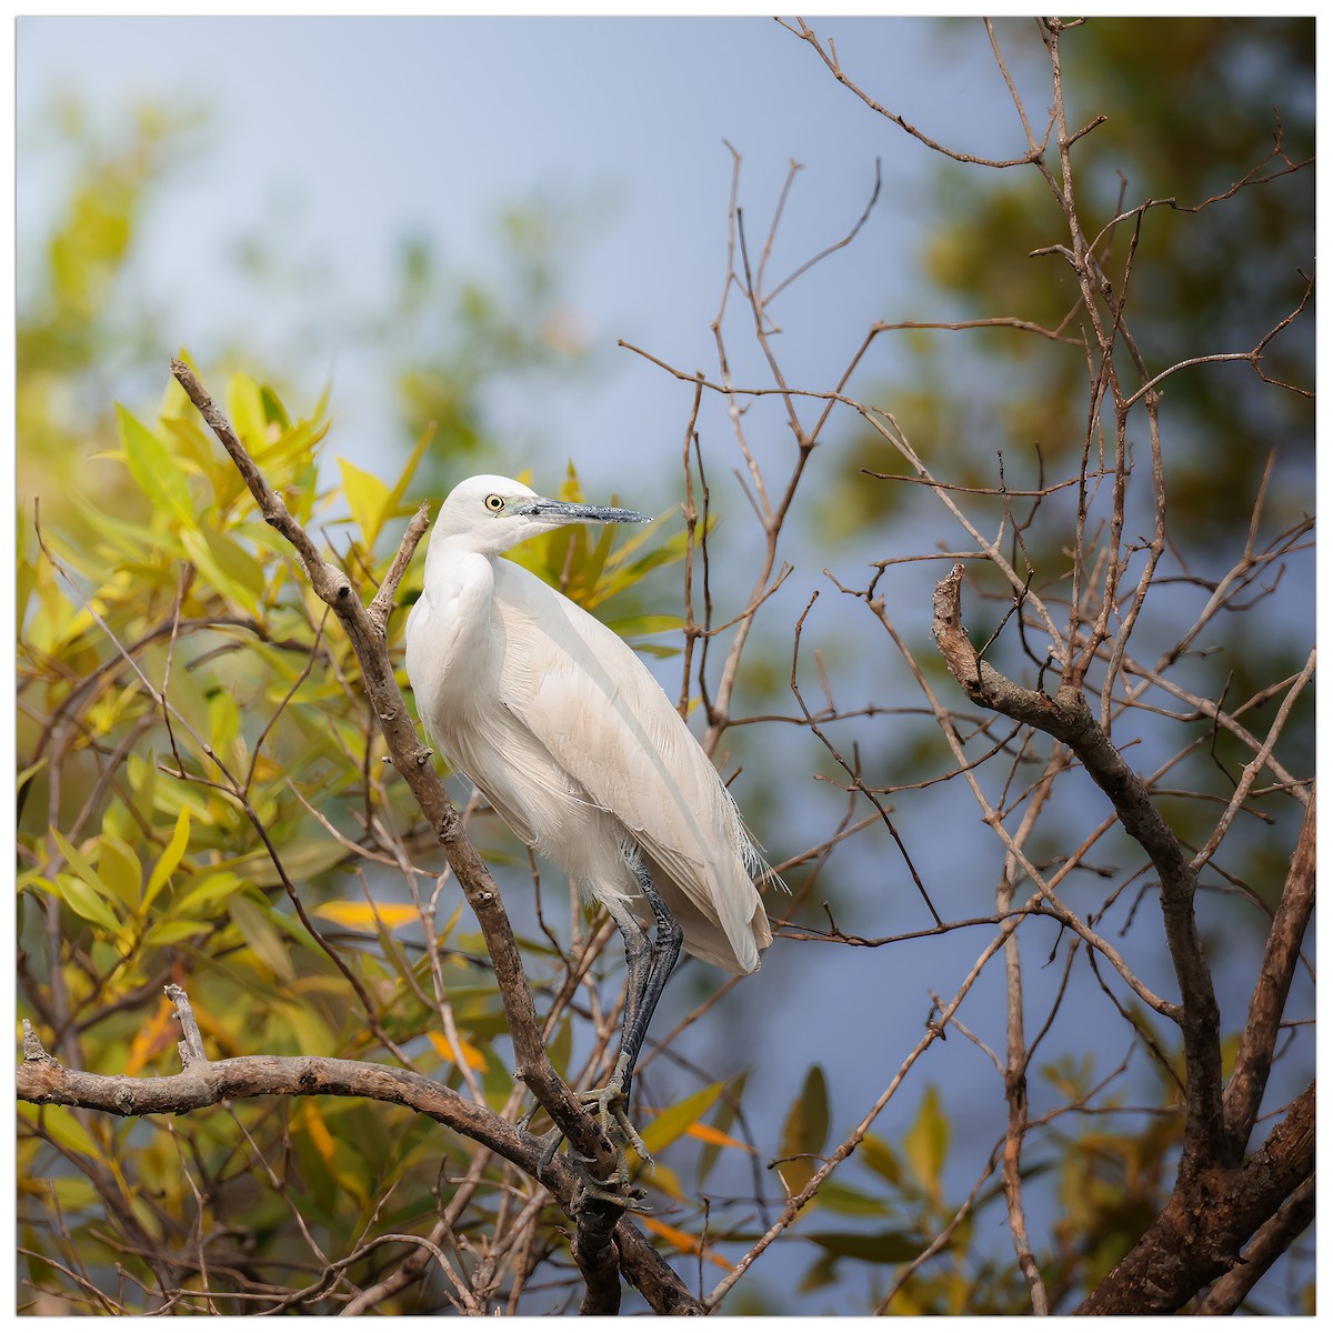
[[[624,936],[620,1052],[591,1096],[604,1125],[609,1108],[631,1136],[635,1062],[681,942],[728,972],[753,972],[773,938],[754,877],[772,872],[633,651],[500,555],[565,524],[647,521],[472,477],[440,507],[407,623],[408,677],[433,741]],[[656,922],[652,941],[641,914]]]

